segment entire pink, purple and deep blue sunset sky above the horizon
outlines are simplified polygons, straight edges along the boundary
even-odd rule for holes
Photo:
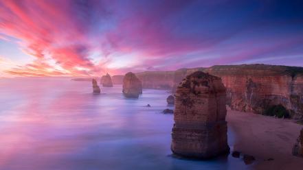
[[[0,77],[303,66],[303,1],[0,0]]]

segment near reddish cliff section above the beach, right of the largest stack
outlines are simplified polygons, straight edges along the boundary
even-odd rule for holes
[[[227,104],[233,110],[265,114],[269,108],[283,106],[293,119],[302,119],[300,70],[290,66],[253,64],[214,66],[210,73],[222,78],[227,88]]]

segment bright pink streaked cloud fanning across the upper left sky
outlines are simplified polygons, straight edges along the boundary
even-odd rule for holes
[[[74,19],[69,8],[73,5],[72,1],[0,3],[1,32],[21,40],[27,53],[37,60],[45,60],[47,53],[63,69],[75,73],[81,72],[76,71],[76,66],[93,69],[94,64],[88,58],[87,51],[91,45],[85,32],[86,27],[79,26],[81,23]],[[33,64],[37,66],[37,63]]]

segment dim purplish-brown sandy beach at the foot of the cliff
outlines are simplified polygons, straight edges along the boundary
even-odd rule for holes
[[[235,133],[231,151],[254,156],[253,169],[302,169],[303,158],[292,156],[291,149],[303,125],[234,110],[227,111],[227,122]]]

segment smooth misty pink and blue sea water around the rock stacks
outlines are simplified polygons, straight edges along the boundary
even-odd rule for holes
[[[139,99],[120,85],[91,91],[91,82],[63,78],[0,80],[0,169],[247,169],[230,155],[173,158],[165,90]]]

